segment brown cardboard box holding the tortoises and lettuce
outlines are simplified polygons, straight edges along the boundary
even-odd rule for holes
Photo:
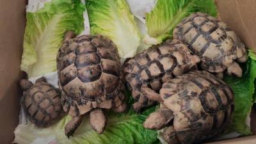
[[[256,0],[216,0],[221,20],[237,32],[247,47],[256,52]],[[26,24],[26,0],[0,1],[0,143],[12,143],[19,122],[19,79],[22,42]],[[252,113],[256,133],[256,114]],[[211,144],[255,144],[256,136],[216,141]]]

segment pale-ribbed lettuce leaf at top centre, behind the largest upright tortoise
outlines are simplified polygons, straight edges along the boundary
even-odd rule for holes
[[[86,1],[92,35],[104,35],[113,40],[121,58],[136,54],[140,32],[125,0]]]

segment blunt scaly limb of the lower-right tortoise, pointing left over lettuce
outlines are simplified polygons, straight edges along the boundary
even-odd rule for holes
[[[143,126],[147,129],[161,129],[174,118],[172,110],[161,106],[156,112],[151,113]]]

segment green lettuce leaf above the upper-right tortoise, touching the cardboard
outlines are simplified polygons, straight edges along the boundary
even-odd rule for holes
[[[158,0],[152,12],[146,15],[148,35],[143,38],[143,42],[159,44],[171,38],[175,26],[195,12],[216,16],[214,0]]]

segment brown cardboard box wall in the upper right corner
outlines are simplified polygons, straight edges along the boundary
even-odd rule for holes
[[[256,52],[256,1],[255,0],[216,0],[221,20],[246,44]]]

